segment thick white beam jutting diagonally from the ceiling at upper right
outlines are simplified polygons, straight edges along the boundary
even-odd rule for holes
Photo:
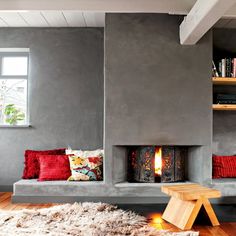
[[[180,43],[193,45],[236,3],[236,0],[197,0],[180,25]]]

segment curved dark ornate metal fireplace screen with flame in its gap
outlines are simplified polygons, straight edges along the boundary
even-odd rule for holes
[[[184,146],[128,147],[128,182],[183,182],[187,155]]]

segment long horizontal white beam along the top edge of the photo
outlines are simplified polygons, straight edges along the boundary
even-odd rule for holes
[[[0,0],[0,10],[77,10],[187,14],[195,1],[196,0]]]

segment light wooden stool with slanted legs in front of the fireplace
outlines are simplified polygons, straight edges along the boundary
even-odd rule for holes
[[[162,218],[182,230],[192,228],[203,206],[213,226],[219,221],[208,198],[219,198],[220,191],[199,184],[162,186],[161,191],[171,196]]]

